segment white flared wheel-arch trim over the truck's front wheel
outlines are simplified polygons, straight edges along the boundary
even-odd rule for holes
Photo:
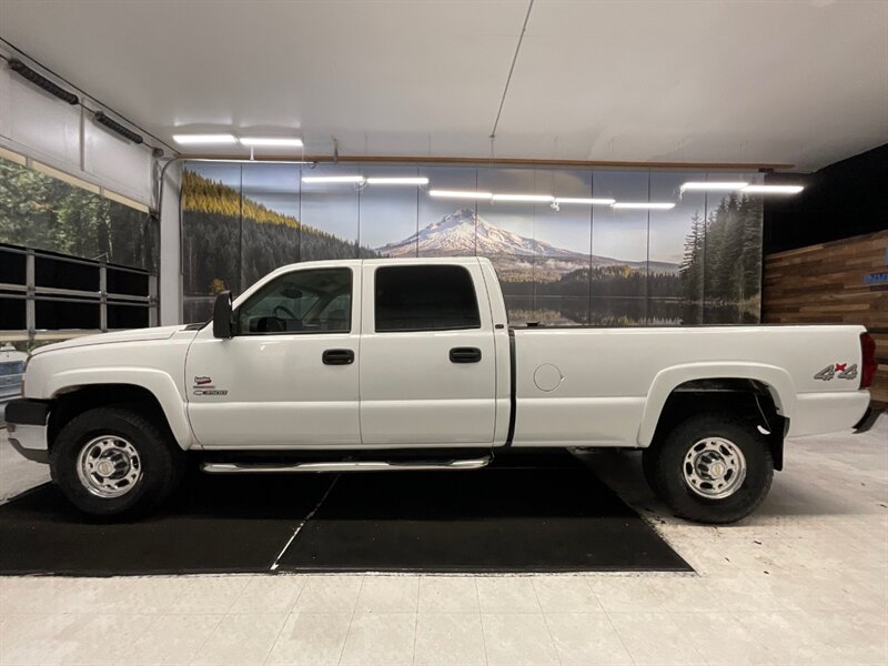
[[[175,441],[182,448],[191,448],[194,437],[185,413],[185,402],[173,379],[161,370],[147,367],[97,367],[65,370],[46,380],[46,394],[59,394],[95,384],[130,384],[140,386],[158,400]]]

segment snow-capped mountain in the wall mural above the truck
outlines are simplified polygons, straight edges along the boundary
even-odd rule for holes
[[[588,268],[589,255],[556,248],[549,243],[500,229],[478,216],[472,209],[458,209],[444,215],[437,222],[421,229],[418,233],[403,241],[376,248],[384,256],[415,256],[418,245],[421,256],[512,256],[516,262],[526,263],[529,258],[535,262],[545,260],[552,269],[572,271]],[[609,256],[592,258],[592,265],[629,266],[644,269],[645,262],[623,261]],[[652,262],[652,269],[663,272],[675,272],[676,264]]]

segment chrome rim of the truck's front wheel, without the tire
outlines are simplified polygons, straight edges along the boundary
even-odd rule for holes
[[[80,483],[97,497],[110,500],[131,492],[142,478],[142,458],[117,435],[90,440],[77,456]]]

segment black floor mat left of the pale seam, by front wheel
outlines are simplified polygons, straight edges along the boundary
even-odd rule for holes
[[[0,574],[268,572],[332,481],[195,473],[155,514],[125,524],[91,523],[42,485],[0,506]]]

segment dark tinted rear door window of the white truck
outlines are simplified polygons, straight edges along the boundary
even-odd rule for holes
[[[472,275],[463,266],[385,266],[376,271],[376,331],[480,329]]]

